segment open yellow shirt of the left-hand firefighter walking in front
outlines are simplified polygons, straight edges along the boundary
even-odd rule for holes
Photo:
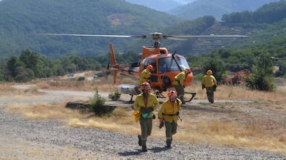
[[[158,101],[157,97],[155,97],[155,95],[152,93],[149,93],[149,95],[148,95],[147,106],[145,106],[145,104],[144,104],[143,93],[137,95],[137,97],[134,101],[134,105],[133,105],[133,108],[137,112],[140,112],[141,108],[153,108],[153,110],[156,110],[158,107],[159,107],[159,101]],[[152,118],[152,117],[153,117],[153,115],[149,115],[148,118]]]

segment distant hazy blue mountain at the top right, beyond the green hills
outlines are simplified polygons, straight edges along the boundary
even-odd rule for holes
[[[204,15],[211,15],[220,21],[222,14],[244,10],[253,11],[265,3],[276,1],[280,0],[198,0],[170,10],[169,13],[186,19],[196,19]]]

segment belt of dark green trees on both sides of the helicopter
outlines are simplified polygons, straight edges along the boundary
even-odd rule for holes
[[[127,52],[116,54],[117,63],[130,63],[139,61],[138,54]],[[61,57],[50,60],[29,49],[22,50],[19,57],[11,56],[7,61],[1,62],[0,80],[27,82],[32,79],[57,77],[69,72],[84,70],[102,70],[108,66],[109,54],[96,57]],[[286,63],[278,61],[279,73],[274,74],[274,64],[271,54],[265,50],[214,50],[211,54],[197,57],[187,57],[191,68],[200,68],[200,72],[193,70],[197,77],[202,77],[204,71],[213,70],[219,83],[225,81],[227,71],[249,69],[252,74],[247,79],[247,86],[257,90],[274,90],[274,76],[285,76]]]

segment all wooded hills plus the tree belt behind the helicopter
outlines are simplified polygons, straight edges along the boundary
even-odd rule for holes
[[[7,3],[8,1],[10,3]],[[140,34],[140,32],[143,32],[142,30],[152,32],[152,30],[157,29],[171,35],[242,33],[249,35],[249,37],[242,39],[195,38],[189,41],[170,40],[162,41],[162,43],[168,47],[170,52],[178,51],[176,53],[185,55],[193,73],[198,77],[202,75],[202,70],[211,68],[218,81],[222,82],[226,71],[236,72],[247,68],[254,73],[249,78],[249,88],[273,90],[274,62],[276,67],[279,68],[275,72],[276,77],[286,76],[285,1],[269,3],[254,12],[225,14],[224,22],[218,22],[211,16],[200,17],[193,21],[182,21],[175,17],[169,17],[162,12],[158,14],[159,17],[153,16],[146,20],[146,12],[144,12],[143,17],[140,16],[141,12],[138,10],[131,12],[135,10],[135,7],[124,1],[118,1],[119,3],[116,4],[113,4],[114,1],[111,0],[90,1],[88,5],[93,4],[94,6],[91,5],[93,8],[103,4],[97,10],[91,11],[84,10],[83,8],[88,8],[88,6],[76,0],[69,1],[73,3],[73,6],[69,8],[67,8],[68,3],[63,0],[57,2],[41,0],[41,3],[27,0],[26,2],[29,5],[25,6],[23,3],[24,7],[18,6],[16,2],[20,3],[19,0],[8,1],[0,2],[0,9],[3,13],[0,15],[0,25],[2,26],[0,34],[1,38],[3,37],[0,40],[2,47],[0,53],[1,55],[8,55],[7,60],[0,63],[0,81],[23,82],[35,78],[64,75],[68,72],[106,68],[110,57],[108,57],[108,54],[102,53],[108,52],[106,50],[108,41],[115,43],[115,48],[117,46],[122,47],[120,50],[116,49],[117,63],[138,61],[138,52],[134,52],[134,50],[140,50],[142,44],[146,45],[144,39],[124,41],[124,39],[106,40],[92,37],[48,37],[41,34],[41,32],[90,34],[90,30],[95,34],[97,32],[102,32],[101,34]],[[35,5],[32,6],[32,3],[35,3]],[[42,6],[43,4],[45,4],[45,7]],[[120,4],[124,4],[123,8],[125,10],[121,10],[122,6]],[[108,5],[113,5],[112,10],[106,9],[111,8],[107,7]],[[73,10],[75,6],[82,8],[82,10],[76,12]],[[16,10],[9,10],[8,14],[6,12],[8,8],[16,8]],[[41,8],[41,10],[38,8]],[[154,14],[158,13],[147,8],[140,9]],[[79,17],[78,15],[84,16]],[[100,16],[91,19],[88,17],[89,15]],[[160,17],[167,17],[167,19],[160,19]],[[156,21],[156,19],[162,21]],[[153,41],[150,41],[149,44],[152,45],[152,43]],[[85,46],[86,44],[89,46]],[[202,56],[193,55],[198,46],[201,46],[203,50],[196,50],[196,52],[202,54]],[[133,51],[120,52],[124,50],[124,47],[125,50]],[[30,50],[22,48],[30,48]],[[101,48],[104,48],[102,49],[104,51],[101,51]],[[220,49],[213,50],[218,48]],[[19,52],[15,53],[15,50],[19,50]],[[41,50],[41,52],[38,50]],[[11,57],[11,54],[7,54],[10,52],[19,55]],[[41,55],[45,52],[48,57]],[[100,54],[100,52],[102,53]],[[66,56],[62,56],[64,54]],[[89,55],[93,55],[93,57]],[[52,57],[60,58],[51,60]]]

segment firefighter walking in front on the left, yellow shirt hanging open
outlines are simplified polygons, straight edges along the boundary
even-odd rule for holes
[[[133,108],[139,112],[141,135],[138,135],[138,144],[142,146],[142,151],[146,152],[147,137],[152,132],[152,120],[155,119],[153,111],[159,107],[159,101],[154,94],[150,93],[151,86],[148,82],[144,81],[141,84],[142,93],[137,95]]]

